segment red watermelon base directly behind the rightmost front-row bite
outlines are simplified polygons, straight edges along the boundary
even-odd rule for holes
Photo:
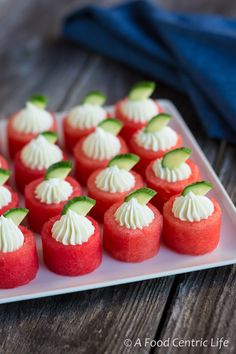
[[[154,162],[155,161],[152,161],[148,165],[145,174],[148,187],[154,189],[157,192],[157,194],[152,199],[152,203],[160,211],[162,211],[164,203],[173,195],[181,193],[186,186],[202,179],[198,166],[192,160],[186,161],[186,163],[191,168],[191,176],[185,180],[177,182],[168,182],[164,179],[156,177],[152,169]]]

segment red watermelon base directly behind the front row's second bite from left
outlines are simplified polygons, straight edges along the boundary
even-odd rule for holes
[[[79,183],[72,177],[67,177],[66,181],[73,187],[73,192],[68,200],[61,203],[46,204],[41,203],[35,197],[36,187],[43,181],[43,178],[39,178],[25,187],[25,206],[29,209],[27,219],[30,228],[37,233],[41,233],[43,225],[52,217],[61,213],[64,205],[69,199],[75,196],[82,195],[82,188]]]

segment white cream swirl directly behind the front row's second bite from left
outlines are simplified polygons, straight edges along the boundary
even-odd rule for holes
[[[42,181],[35,189],[35,196],[41,203],[58,204],[68,200],[73,192],[69,182],[59,178]]]

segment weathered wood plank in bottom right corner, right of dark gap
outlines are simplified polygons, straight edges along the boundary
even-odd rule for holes
[[[175,287],[165,323],[156,338],[216,339],[229,340],[229,347],[221,353],[235,353],[235,289],[236,267],[223,267],[186,274]],[[160,348],[158,353],[179,353],[180,348]],[[193,353],[184,348],[184,353]],[[216,353],[214,347],[198,348],[197,353]]]

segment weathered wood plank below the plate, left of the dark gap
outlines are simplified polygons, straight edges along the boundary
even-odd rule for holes
[[[125,352],[125,338],[154,336],[172,281],[163,278],[3,305],[0,352]]]

